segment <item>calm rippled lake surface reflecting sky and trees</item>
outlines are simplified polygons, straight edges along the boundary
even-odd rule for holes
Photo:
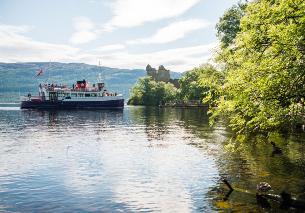
[[[0,104],[0,212],[302,212],[255,197],[268,182],[305,199],[302,131],[232,155],[228,120],[210,127],[207,109],[18,106]]]

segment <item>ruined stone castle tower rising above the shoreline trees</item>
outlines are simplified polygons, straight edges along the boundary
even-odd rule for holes
[[[156,82],[164,81],[165,83],[172,83],[177,89],[180,88],[178,79],[171,79],[169,76],[169,70],[166,70],[163,65],[160,65],[158,70],[152,68],[149,64],[146,66],[146,75],[153,77]]]

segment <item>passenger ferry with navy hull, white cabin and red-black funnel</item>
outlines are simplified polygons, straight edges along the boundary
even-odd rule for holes
[[[51,80],[52,81],[52,80]],[[96,83],[77,81],[74,87],[45,87],[39,96],[20,96],[21,108],[123,108],[125,95],[108,93],[101,79],[101,70]]]

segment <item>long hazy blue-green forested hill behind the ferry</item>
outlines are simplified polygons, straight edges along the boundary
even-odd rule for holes
[[[73,85],[78,80],[95,82],[99,66],[83,63],[58,63],[52,62],[53,84]],[[37,76],[40,70],[43,73]],[[130,87],[134,86],[139,77],[146,76],[146,70],[118,69],[101,67],[102,79],[104,79],[109,92],[125,92],[126,100],[129,96]],[[29,63],[0,63],[0,102],[14,102],[19,100],[21,95],[31,92],[33,96],[38,95],[38,85],[47,83],[50,74],[50,62],[29,62]],[[170,72],[171,78],[179,79],[184,73]]]

